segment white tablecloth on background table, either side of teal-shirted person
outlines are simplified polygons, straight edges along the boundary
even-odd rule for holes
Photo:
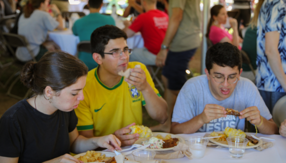
[[[53,40],[63,51],[72,55],[77,53],[77,44],[79,37],[73,35],[72,30],[49,32],[49,38]],[[133,37],[127,38],[127,45],[130,49],[143,48],[144,41],[140,33],[136,33]]]

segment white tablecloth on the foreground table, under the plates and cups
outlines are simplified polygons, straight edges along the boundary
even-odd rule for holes
[[[255,133],[254,133],[255,134]],[[205,132],[193,134],[179,134],[187,139],[190,136],[204,136]],[[257,134],[257,137],[267,137],[275,139],[274,146],[263,151],[246,149],[243,158],[233,159],[228,148],[207,147],[203,158],[189,160],[186,157],[181,159],[166,160],[169,163],[286,163],[286,138],[281,135]],[[263,139],[263,141],[266,141]],[[133,160],[132,154],[127,155]],[[160,160],[161,161],[161,160]]]

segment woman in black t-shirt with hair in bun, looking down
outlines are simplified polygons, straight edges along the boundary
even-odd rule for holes
[[[63,51],[47,52],[38,63],[23,67],[21,81],[35,94],[0,118],[0,163],[80,163],[68,153],[121,149],[112,134],[78,134],[74,109],[84,99],[87,74],[82,61]]]

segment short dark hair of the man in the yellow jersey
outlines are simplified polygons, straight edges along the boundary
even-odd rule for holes
[[[113,25],[105,25],[97,28],[90,36],[91,53],[98,53],[104,58],[104,49],[108,41],[121,37],[127,40],[126,33]]]

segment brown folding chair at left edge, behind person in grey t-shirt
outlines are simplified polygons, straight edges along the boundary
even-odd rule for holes
[[[2,33],[2,36],[3,38],[5,39],[5,43],[7,45],[7,47],[11,50],[14,58],[15,58],[15,61],[13,62],[13,65],[16,65],[18,67],[18,71],[16,73],[14,73],[12,76],[10,76],[10,78],[6,81],[5,84],[2,84],[1,85],[5,88],[9,82],[15,77],[17,76],[17,78],[12,82],[12,84],[10,85],[6,95],[10,96],[10,97],[13,97],[13,98],[17,98],[17,99],[23,99],[23,98],[26,98],[28,97],[31,89],[29,89],[26,93],[26,95],[24,97],[19,97],[17,95],[13,95],[11,93],[11,90],[12,88],[14,87],[14,85],[16,84],[16,82],[20,79],[20,70],[21,68],[23,67],[23,65],[25,63],[23,62],[20,62],[18,61],[17,57],[16,57],[16,54],[15,54],[15,51],[14,49],[12,49],[12,47],[15,47],[15,48],[18,48],[18,47],[26,47],[28,49],[28,51],[30,52],[30,55],[31,55],[31,60],[36,62],[36,59],[34,57],[34,54],[33,54],[33,51],[29,49],[29,43],[26,41],[26,38],[22,35],[18,35],[18,34],[12,34],[12,33]]]

